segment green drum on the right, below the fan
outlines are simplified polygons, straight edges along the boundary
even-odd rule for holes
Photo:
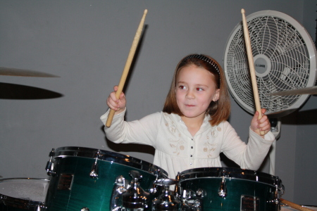
[[[201,210],[280,210],[282,181],[271,174],[237,168],[206,167],[180,172],[179,192]],[[185,196],[186,195],[186,196]]]

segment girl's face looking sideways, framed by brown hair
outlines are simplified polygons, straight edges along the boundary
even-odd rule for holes
[[[189,65],[178,73],[176,101],[182,115],[203,120],[211,101],[218,101],[219,90],[211,72],[196,65]]]

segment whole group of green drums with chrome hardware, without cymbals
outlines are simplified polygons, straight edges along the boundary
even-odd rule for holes
[[[281,206],[278,177],[251,170],[204,167],[170,179],[129,155],[61,147],[49,153],[46,172],[50,179],[0,179],[0,210],[295,210]]]

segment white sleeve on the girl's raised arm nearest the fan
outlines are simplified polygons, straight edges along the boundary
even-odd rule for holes
[[[242,169],[258,170],[275,140],[272,132],[268,132],[263,139],[249,128],[249,141],[246,144],[229,123],[226,130],[223,153]]]

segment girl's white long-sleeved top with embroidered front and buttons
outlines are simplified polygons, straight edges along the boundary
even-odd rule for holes
[[[109,110],[100,117],[106,123]],[[175,178],[178,172],[198,167],[221,167],[223,152],[242,169],[258,170],[275,137],[268,132],[264,139],[249,129],[244,143],[229,122],[211,127],[209,115],[192,136],[179,115],[154,113],[132,122],[124,121],[125,112],[115,115],[106,136],[114,143],[142,143],[155,148],[154,165]]]

